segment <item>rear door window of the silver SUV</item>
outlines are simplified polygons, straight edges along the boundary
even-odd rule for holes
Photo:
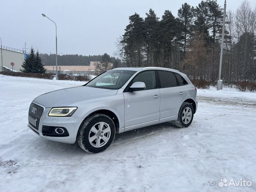
[[[170,71],[158,71],[160,88],[175,87],[177,86],[177,81],[174,73]]]

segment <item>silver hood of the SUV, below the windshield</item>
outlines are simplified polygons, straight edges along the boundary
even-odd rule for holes
[[[36,97],[33,101],[44,107],[65,107],[72,103],[116,95],[118,90],[100,89],[94,87],[71,87],[48,92]],[[74,106],[76,107],[76,106]]]

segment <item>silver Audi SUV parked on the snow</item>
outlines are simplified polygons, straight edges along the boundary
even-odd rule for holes
[[[75,143],[88,153],[108,148],[116,133],[173,121],[190,126],[197,90],[180,71],[167,68],[116,68],[87,84],[36,97],[28,127],[39,136]]]

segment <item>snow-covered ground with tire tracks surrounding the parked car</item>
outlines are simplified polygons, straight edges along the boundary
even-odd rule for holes
[[[0,191],[256,191],[256,93],[198,90],[188,128],[162,123],[116,135],[99,154],[27,128],[34,97],[84,82],[0,75]],[[221,179],[251,187],[219,187]]]

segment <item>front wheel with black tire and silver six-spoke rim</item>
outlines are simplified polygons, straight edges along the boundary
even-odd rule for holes
[[[105,114],[95,113],[81,124],[76,140],[87,153],[100,153],[111,145],[115,133],[112,119]]]

